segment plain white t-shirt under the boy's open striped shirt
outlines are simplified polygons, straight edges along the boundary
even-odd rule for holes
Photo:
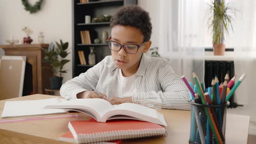
[[[115,80],[112,97],[125,98],[135,93],[135,75],[124,77],[121,69],[118,69],[118,76]]]

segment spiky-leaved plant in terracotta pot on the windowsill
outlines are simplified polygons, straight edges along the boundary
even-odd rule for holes
[[[225,52],[225,36],[229,34],[229,28],[233,30],[233,16],[236,9],[230,3],[225,4],[225,0],[214,0],[210,4],[210,17],[208,28],[213,34],[213,54],[223,56]],[[224,35],[226,33],[226,35]]]

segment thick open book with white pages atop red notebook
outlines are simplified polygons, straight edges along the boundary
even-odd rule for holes
[[[98,122],[111,119],[135,119],[167,126],[164,116],[158,111],[133,103],[111,105],[101,98],[82,98],[46,105],[44,108],[68,109],[90,115]]]

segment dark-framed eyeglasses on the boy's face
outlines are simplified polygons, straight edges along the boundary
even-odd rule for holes
[[[111,49],[112,51],[119,51],[121,47],[123,47],[125,49],[125,52],[131,53],[131,54],[138,52],[138,49],[146,43],[144,42],[141,45],[136,45],[136,44],[121,45],[120,43],[117,43],[110,39],[111,37],[107,40],[109,49]]]

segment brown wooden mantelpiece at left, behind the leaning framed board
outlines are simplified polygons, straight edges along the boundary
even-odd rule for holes
[[[50,87],[49,77],[52,73],[49,69],[42,69],[42,67],[49,66],[48,63],[42,63],[45,56],[43,49],[47,49],[48,46],[48,44],[0,46],[5,56],[26,56],[23,95],[44,94],[44,89]]]

